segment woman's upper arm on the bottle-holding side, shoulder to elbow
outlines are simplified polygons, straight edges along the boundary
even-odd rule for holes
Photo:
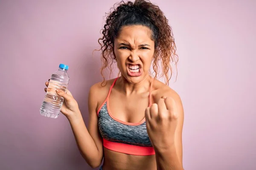
[[[91,86],[89,95],[88,95],[88,110],[89,110],[89,126],[88,132],[90,136],[92,136],[93,141],[96,144],[96,147],[99,151],[99,156],[101,160],[103,159],[103,145],[102,145],[102,136],[99,133],[99,125],[98,125],[98,115],[97,115],[97,105],[99,97],[99,85],[95,84]]]

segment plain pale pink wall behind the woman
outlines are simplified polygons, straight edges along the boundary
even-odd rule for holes
[[[0,169],[90,170],[67,119],[41,116],[44,82],[70,66],[84,121],[102,80],[99,31],[117,0],[0,1]],[[256,1],[154,0],[173,28],[186,170],[255,170]],[[115,77],[116,75],[113,75]]]

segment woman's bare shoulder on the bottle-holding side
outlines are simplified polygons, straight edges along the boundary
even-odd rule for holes
[[[108,96],[108,91],[114,80],[115,79],[107,80],[103,84],[102,82],[97,82],[90,87],[88,103],[89,105],[93,105],[93,108],[96,109],[96,111]]]

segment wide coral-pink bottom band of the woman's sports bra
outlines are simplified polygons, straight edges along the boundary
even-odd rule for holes
[[[131,144],[111,142],[103,138],[103,146],[115,152],[126,153],[130,155],[149,156],[155,155],[154,147],[143,147]]]

